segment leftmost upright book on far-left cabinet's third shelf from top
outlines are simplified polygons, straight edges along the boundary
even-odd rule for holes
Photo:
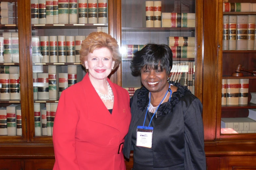
[[[10,100],[10,74],[0,74],[0,100]]]

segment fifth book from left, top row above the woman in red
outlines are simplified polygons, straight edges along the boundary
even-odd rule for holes
[[[69,0],[58,0],[59,23],[69,22]]]

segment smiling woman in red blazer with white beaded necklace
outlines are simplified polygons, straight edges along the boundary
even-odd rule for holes
[[[61,93],[53,129],[54,170],[125,170],[131,120],[128,91],[107,78],[120,62],[117,41],[91,33],[81,45],[87,74]]]

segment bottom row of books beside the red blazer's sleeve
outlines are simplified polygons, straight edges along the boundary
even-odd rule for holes
[[[34,103],[35,136],[52,136],[58,103]]]

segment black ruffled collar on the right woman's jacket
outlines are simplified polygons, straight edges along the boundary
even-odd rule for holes
[[[187,86],[180,85],[180,83],[174,83],[170,82],[171,85],[174,85],[178,87],[176,92],[172,93],[172,97],[170,102],[162,103],[158,110],[157,115],[167,115],[169,113],[173,112],[173,108],[177,103],[179,103],[180,98],[185,96],[186,92],[190,92],[190,90],[187,88]],[[140,110],[144,111],[146,107],[148,106],[149,98],[148,98],[148,90],[145,87],[142,87],[140,91],[138,92],[138,100],[137,100],[137,106]]]

